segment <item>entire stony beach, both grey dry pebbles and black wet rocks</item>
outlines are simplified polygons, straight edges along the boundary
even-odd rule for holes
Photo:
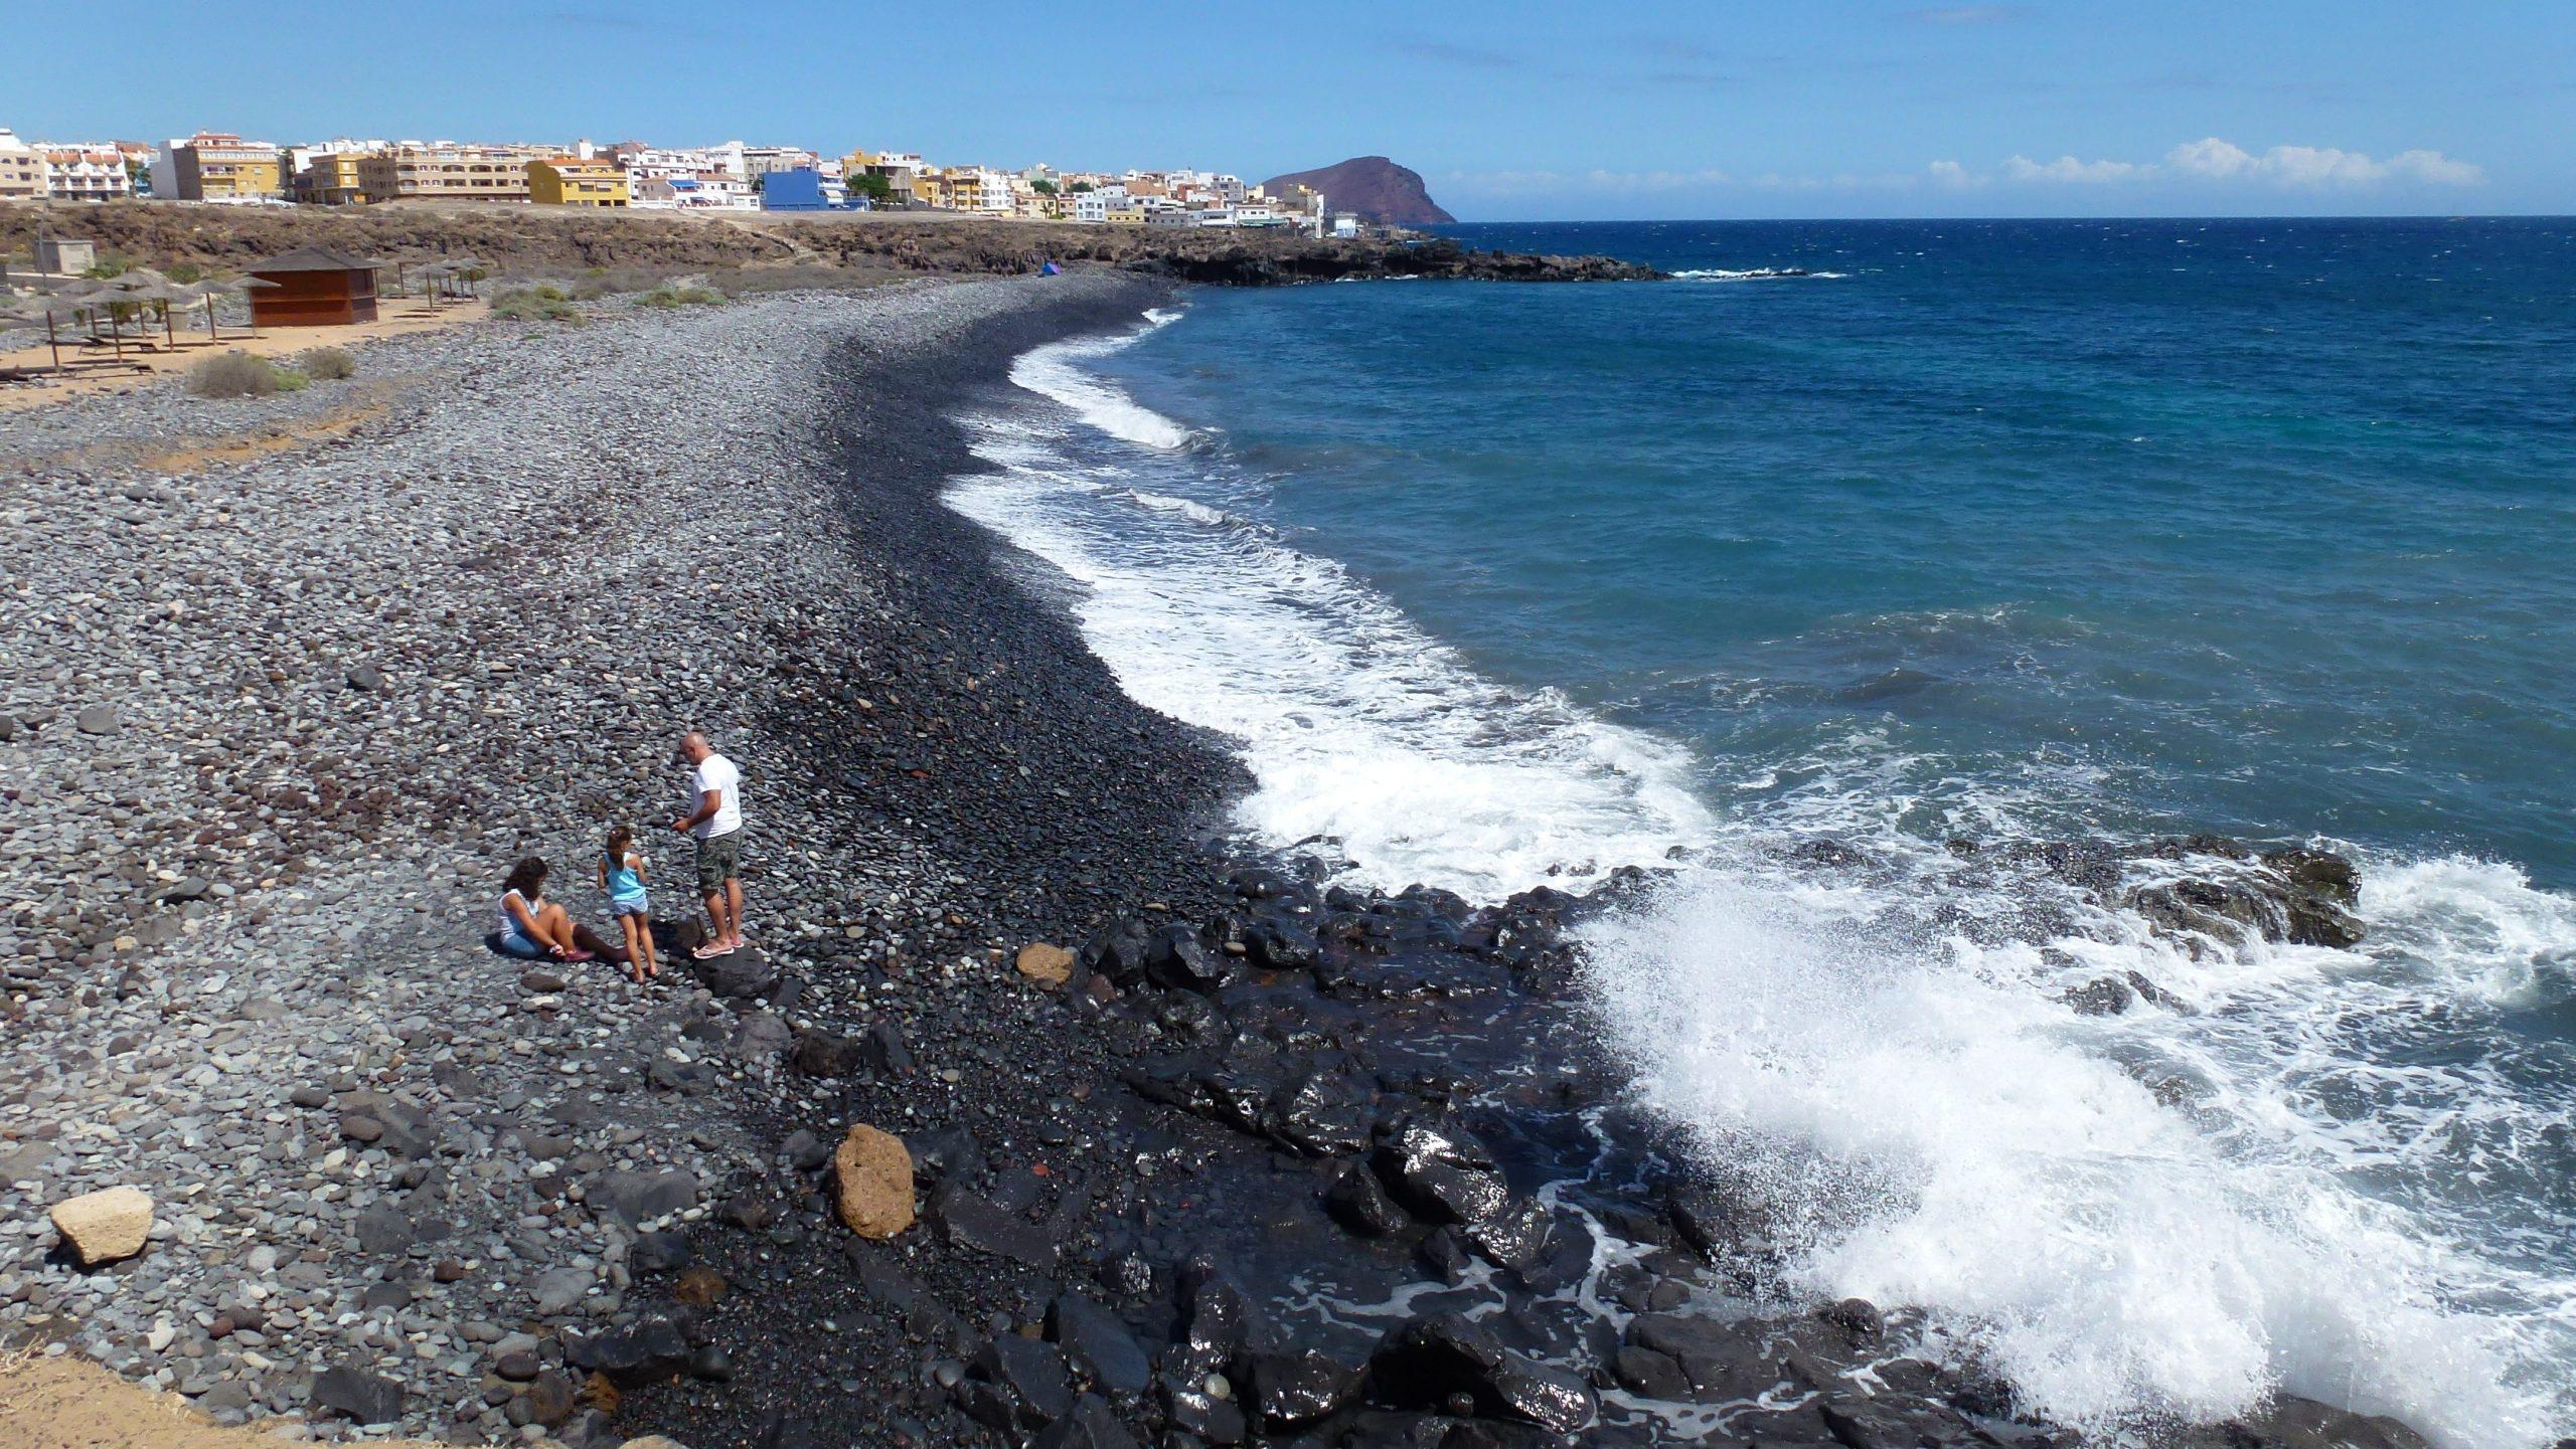
[[[1012,358],[1170,286],[611,299],[0,414],[0,1349],[46,1400],[88,1361],[332,1441],[2071,1446],[1909,1307],[1785,1289],[1772,1207],[1636,1102],[1577,932],[1646,870],[1466,901],[1239,839],[1226,741],[940,502]],[[752,950],[708,963],[688,728],[744,772]],[[662,975],[492,955],[526,854],[613,937],[611,824]],[[2357,929],[2339,857],[2190,854],[2177,932]],[[2424,1441],[2282,1395],[2172,1444]]]

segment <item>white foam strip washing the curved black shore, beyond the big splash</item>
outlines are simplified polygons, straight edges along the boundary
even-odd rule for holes
[[[1108,345],[1041,347],[1012,378],[1115,438],[1185,438],[1136,427],[1159,414],[1079,371]],[[1687,752],[1476,677],[1340,564],[1139,486],[1133,463],[1077,461],[1064,427],[969,420],[997,471],[948,499],[1082,584],[1084,638],[1128,695],[1242,746],[1255,836],[1332,836],[1373,880],[1484,896],[1659,865],[1708,834]]]

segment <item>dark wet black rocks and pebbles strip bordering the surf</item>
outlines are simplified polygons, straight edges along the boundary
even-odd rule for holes
[[[1012,314],[907,360],[902,383],[845,360],[845,522],[899,579],[884,602],[904,623],[884,641],[912,641],[909,705],[1046,703],[1007,736],[876,744],[850,715],[881,690],[876,641],[873,659],[824,651],[819,697],[786,700],[799,718],[781,723],[822,777],[922,772],[917,811],[1010,839],[958,862],[1007,947],[963,960],[935,1001],[904,973],[804,965],[801,1089],[757,1122],[773,1171],[662,1246],[670,1277],[644,1287],[670,1302],[572,1364],[629,1385],[629,1423],[701,1449],[2074,1444],[2017,1421],[2009,1387],[1909,1356],[1904,1310],[1772,1297],[1759,1202],[1623,1099],[1566,934],[1651,880],[1476,906],[1244,857],[1216,834],[1239,782],[1224,754],[1126,705],[1043,566],[938,504],[976,466],[945,422],[961,396],[1144,304]],[[1007,685],[938,690],[956,667]],[[992,770],[1005,746],[1036,780]],[[1048,782],[1074,772],[1064,800]],[[1167,788],[1139,795],[1157,772]],[[2174,932],[2354,929],[2331,857],[2159,849],[2221,867],[2125,901]],[[1832,842],[1803,854],[1865,867]],[[2020,867],[2102,903],[2128,891],[2107,847]],[[1079,950],[1041,963],[1051,981],[1005,963],[1025,942]],[[2074,1006],[2117,1011],[2128,991],[2105,981]],[[886,993],[920,1006],[889,1014]],[[958,1060],[971,1076],[925,1109],[925,1073]],[[829,1153],[853,1122],[912,1153],[925,1212],[891,1241],[835,1217]],[[726,1284],[714,1302],[708,1282]],[[708,1346],[724,1382],[688,1372]],[[2306,1400],[2172,1441],[2416,1444]]]

